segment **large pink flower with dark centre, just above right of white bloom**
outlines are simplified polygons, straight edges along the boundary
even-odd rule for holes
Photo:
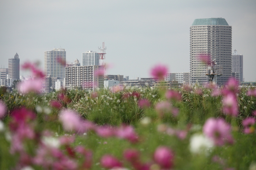
[[[233,143],[231,126],[223,119],[207,119],[203,126],[203,133],[214,141],[215,145],[222,146],[225,143]]]

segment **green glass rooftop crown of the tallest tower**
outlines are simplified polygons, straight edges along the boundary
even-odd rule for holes
[[[229,25],[224,18],[195,19],[192,25]]]

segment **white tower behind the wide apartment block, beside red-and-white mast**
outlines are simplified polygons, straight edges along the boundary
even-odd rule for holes
[[[93,51],[83,52],[83,66],[99,66],[99,54]]]

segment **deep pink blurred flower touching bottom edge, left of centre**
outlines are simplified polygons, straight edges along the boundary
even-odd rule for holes
[[[112,155],[103,155],[101,158],[101,166],[106,169],[111,169],[114,167],[122,167],[122,163]]]

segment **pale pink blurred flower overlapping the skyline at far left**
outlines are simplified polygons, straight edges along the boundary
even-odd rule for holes
[[[20,82],[17,86],[18,91],[22,94],[29,92],[39,93],[42,90],[42,79],[30,79]]]

